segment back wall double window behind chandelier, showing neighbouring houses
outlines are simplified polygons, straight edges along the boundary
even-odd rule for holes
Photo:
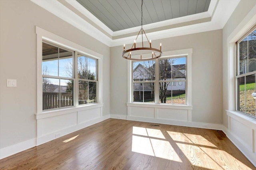
[[[132,61],[132,102],[187,105],[186,63],[184,55]]]

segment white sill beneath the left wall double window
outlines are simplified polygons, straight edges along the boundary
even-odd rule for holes
[[[89,109],[94,109],[94,108],[99,108],[103,107],[103,103],[94,103],[94,104],[89,104],[89,105],[81,105],[77,107],[68,107],[68,108],[61,108],[61,109],[54,109],[50,111],[43,111],[42,113],[37,113],[36,114],[36,119],[44,119],[47,117],[54,117],[54,116],[59,116],[59,115],[65,115],[69,113],[74,113],[78,111],[84,111],[84,110],[89,110]]]

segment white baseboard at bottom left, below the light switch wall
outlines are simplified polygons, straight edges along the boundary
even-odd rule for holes
[[[26,140],[24,142],[20,142],[11,146],[7,146],[5,148],[0,149],[0,159],[22,152],[34,146],[36,146],[36,138]]]

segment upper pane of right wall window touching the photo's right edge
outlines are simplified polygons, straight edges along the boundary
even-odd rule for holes
[[[248,36],[249,54],[248,54],[248,66],[249,72],[256,71],[256,30],[254,30]]]

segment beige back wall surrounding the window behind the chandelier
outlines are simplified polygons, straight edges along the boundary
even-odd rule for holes
[[[193,49],[192,121],[222,124],[222,30],[154,40],[152,45],[160,42],[163,51]],[[127,115],[127,61],[122,48],[110,48],[110,111],[117,115]]]

